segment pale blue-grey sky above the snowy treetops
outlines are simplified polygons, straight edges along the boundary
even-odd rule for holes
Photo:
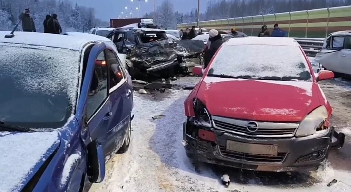
[[[130,0],[71,0],[78,5],[94,7],[96,10],[96,17],[99,19],[110,21],[111,18],[117,18],[121,12],[125,12],[125,7],[138,7],[138,1],[130,2]],[[163,0],[155,0],[156,7],[161,4]],[[200,0],[200,12],[204,12],[207,2],[210,0]],[[172,0],[175,11],[187,12],[192,8],[197,7],[197,0]],[[153,11],[154,0],[140,1],[140,17],[145,13]],[[130,9],[129,11],[130,12]],[[133,11],[133,17],[138,16],[138,11]]]

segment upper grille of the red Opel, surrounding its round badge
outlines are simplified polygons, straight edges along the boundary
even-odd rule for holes
[[[265,129],[260,129],[258,128],[258,130],[256,132],[250,132],[247,130],[246,127],[244,126],[238,126],[238,125],[234,125],[234,124],[229,124],[226,122],[222,122],[219,120],[213,120],[215,126],[228,130],[230,132],[237,132],[237,133],[242,133],[248,136],[279,136],[279,135],[290,135],[292,136],[296,130],[296,128],[290,128],[290,129],[286,129],[286,128],[281,128],[281,129],[277,129],[277,128],[265,128]]]

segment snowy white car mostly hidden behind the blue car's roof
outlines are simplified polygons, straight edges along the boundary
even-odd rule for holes
[[[129,60],[126,59],[126,54],[122,54],[119,53],[117,50],[117,47],[115,45],[115,43],[113,43],[110,39],[99,36],[99,35],[94,35],[94,34],[88,34],[88,33],[81,33],[81,32],[65,32],[63,35],[68,35],[68,36],[74,36],[74,37],[79,37],[79,38],[86,38],[88,40],[92,40],[92,41],[103,41],[105,43],[110,44],[112,47],[114,47],[117,56],[119,58],[119,60],[122,62],[124,68],[126,68],[128,65]]]

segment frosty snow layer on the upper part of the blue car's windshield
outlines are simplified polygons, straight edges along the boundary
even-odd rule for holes
[[[48,104],[45,104],[47,110],[50,107],[49,103],[55,107],[55,103],[60,103],[60,98],[75,106],[80,67],[79,51],[0,43],[0,57],[0,86],[6,88],[9,94],[11,91],[17,93],[17,99],[25,95],[42,96],[45,102],[49,100]],[[13,89],[8,83],[14,83]],[[33,98],[29,99],[27,106],[39,103]],[[67,106],[56,107],[56,111],[60,110],[59,107],[67,109]],[[72,113],[73,110],[74,107]],[[13,115],[15,113],[21,112],[14,111]],[[6,116],[1,115],[0,118]]]

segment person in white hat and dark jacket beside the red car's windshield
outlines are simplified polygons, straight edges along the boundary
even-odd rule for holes
[[[219,47],[222,45],[222,36],[221,34],[218,33],[217,30],[211,29],[208,32],[208,35],[210,38],[208,39],[209,42],[211,43],[209,47],[205,50],[205,55],[204,55],[204,63],[205,63],[205,68],[208,66],[210,63],[213,55],[217,52]]]

